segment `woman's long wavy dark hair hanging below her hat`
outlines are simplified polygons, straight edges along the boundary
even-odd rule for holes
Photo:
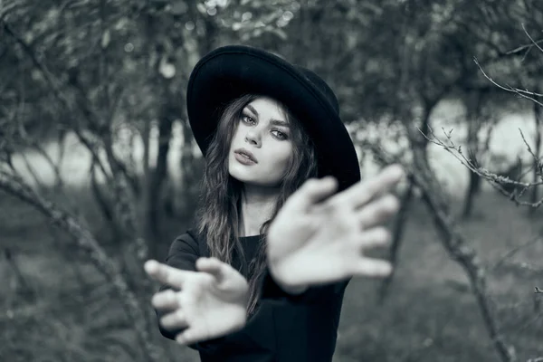
[[[305,180],[316,177],[318,173],[316,150],[309,136],[300,121],[280,103],[285,110],[287,121],[291,124],[293,152],[281,179],[271,218],[261,226],[262,238],[257,252],[252,261],[247,261],[239,241],[243,183],[230,176],[228,154],[233,135],[243,117],[243,108],[258,97],[259,95],[255,94],[243,95],[224,108],[205,156],[202,190],[195,213],[195,231],[198,237],[205,238],[202,240],[206,240],[211,256],[232,264],[234,255],[237,255],[241,265],[248,265],[240,270],[249,283],[248,316],[252,316],[259,305],[260,285],[266,268],[265,245],[268,228],[287,198]]]

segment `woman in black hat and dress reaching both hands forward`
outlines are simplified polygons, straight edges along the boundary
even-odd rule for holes
[[[349,278],[390,271],[363,252],[387,243],[401,169],[359,182],[333,91],[269,52],[210,52],[186,100],[203,197],[166,264],[145,265],[161,333],[203,362],[330,361]]]

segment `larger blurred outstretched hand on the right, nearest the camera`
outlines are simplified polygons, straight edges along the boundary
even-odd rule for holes
[[[365,252],[389,242],[380,225],[398,210],[397,199],[388,193],[402,177],[401,167],[386,167],[336,195],[331,176],[306,181],[270,225],[267,257],[273,279],[286,291],[298,291],[352,276],[388,275],[390,263]]]

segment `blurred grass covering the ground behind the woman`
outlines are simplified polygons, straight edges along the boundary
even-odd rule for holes
[[[67,199],[83,207],[77,212],[87,215],[93,230],[105,238],[106,225],[89,209],[90,197],[73,193]],[[349,284],[334,361],[499,360],[465,273],[445,252],[424,205],[412,206],[387,299],[376,299],[379,281],[355,279]],[[542,233],[540,213],[529,218],[495,193],[480,195],[475,212],[460,226],[486,266]],[[160,248],[167,252],[184,224],[170,220],[164,227]],[[118,300],[84,255],[63,246],[70,243],[65,235],[6,195],[0,197],[0,235],[0,247],[14,251],[29,285],[24,288],[13,268],[0,262],[0,283],[6,286],[0,291],[0,360],[141,360]],[[531,243],[487,275],[492,309],[519,361],[543,356],[543,315],[535,299],[540,295],[533,293],[534,286],[543,287],[543,272],[529,269],[543,270],[541,261],[543,243]],[[10,318],[10,310],[15,317]],[[198,360],[195,351],[161,338],[156,329],[152,334],[173,360]]]

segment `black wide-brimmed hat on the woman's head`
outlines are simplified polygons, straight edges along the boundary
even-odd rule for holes
[[[335,176],[339,190],[360,180],[357,153],[328,84],[312,71],[244,45],[209,52],[190,75],[186,109],[204,156],[224,107],[243,94],[279,100],[300,119],[317,151],[319,177]]]

